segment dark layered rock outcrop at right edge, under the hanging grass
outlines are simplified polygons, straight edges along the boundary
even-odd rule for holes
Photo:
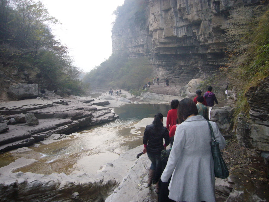
[[[268,85],[267,77],[247,91],[250,119],[242,113],[237,117],[238,142],[247,148],[263,152],[269,151],[269,105],[266,100],[269,96]]]

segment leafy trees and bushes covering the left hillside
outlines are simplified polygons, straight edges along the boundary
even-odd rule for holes
[[[41,2],[0,0],[0,67],[10,74],[27,70],[34,82],[51,86],[48,90],[80,94],[80,71],[72,65],[68,48],[51,33],[50,26],[56,23]]]

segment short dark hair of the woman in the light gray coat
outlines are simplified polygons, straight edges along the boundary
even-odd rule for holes
[[[192,114],[198,114],[197,107],[193,100],[189,98],[181,100],[178,105],[178,120],[185,120]]]

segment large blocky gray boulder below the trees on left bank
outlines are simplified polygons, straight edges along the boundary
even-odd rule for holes
[[[24,98],[33,98],[38,96],[38,87],[37,83],[34,84],[26,84],[26,83],[18,83],[16,85],[11,85],[8,88],[8,94],[10,97],[16,99],[24,99]]]

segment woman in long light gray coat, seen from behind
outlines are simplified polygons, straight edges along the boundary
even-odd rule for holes
[[[183,99],[178,106],[178,120],[185,120],[176,127],[174,144],[162,173],[162,182],[172,175],[168,189],[174,201],[215,202],[215,175],[211,153],[211,136],[208,123],[198,113],[191,99]],[[225,140],[215,122],[210,121],[219,147]]]

